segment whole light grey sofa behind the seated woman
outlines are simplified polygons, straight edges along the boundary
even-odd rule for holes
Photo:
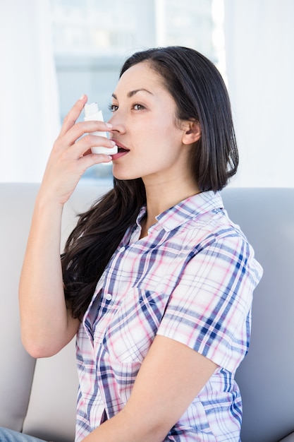
[[[0,184],[0,426],[54,442],[73,442],[75,343],[32,359],[20,342],[18,278],[37,184]],[[80,184],[63,213],[62,238],[106,189]],[[243,442],[294,441],[294,189],[226,189],[231,219],[264,267],[255,291],[252,341],[237,378]]]

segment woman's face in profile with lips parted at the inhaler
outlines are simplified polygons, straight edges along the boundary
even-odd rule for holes
[[[123,73],[111,110],[111,134],[118,145],[113,155],[114,177],[142,177],[146,185],[188,173],[190,146],[183,143],[187,126],[176,121],[176,103],[147,62]]]

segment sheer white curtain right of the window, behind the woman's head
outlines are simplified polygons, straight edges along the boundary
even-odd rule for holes
[[[237,186],[294,186],[294,1],[225,0]]]

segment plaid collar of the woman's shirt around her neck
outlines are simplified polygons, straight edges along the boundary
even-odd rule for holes
[[[219,208],[223,208],[223,201],[219,192],[207,191],[197,193],[197,195],[189,196],[189,198],[180,201],[180,203],[158,215],[156,217],[157,224],[152,227],[162,227],[166,232],[169,232],[200,214],[219,210]],[[146,207],[142,207],[137,216],[137,225],[140,225],[140,221],[145,213]]]

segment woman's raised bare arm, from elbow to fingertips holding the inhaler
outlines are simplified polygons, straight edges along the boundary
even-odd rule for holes
[[[91,147],[97,143],[109,148],[114,145],[108,138],[90,134],[92,131],[108,131],[109,124],[76,122],[85,102],[86,95],[75,103],[63,122],[32,216],[20,276],[19,301],[23,344],[33,357],[47,357],[59,352],[78,330],[79,321],[66,308],[63,292],[60,259],[63,205],[88,167],[111,160],[109,155],[92,154]]]

